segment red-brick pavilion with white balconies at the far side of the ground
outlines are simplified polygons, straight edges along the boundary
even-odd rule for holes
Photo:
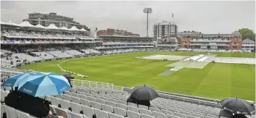
[[[234,34],[189,34],[181,36],[181,49],[241,50],[242,39]]]

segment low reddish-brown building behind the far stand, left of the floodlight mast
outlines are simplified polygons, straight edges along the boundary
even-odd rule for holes
[[[97,31],[97,36],[100,35],[120,35],[120,36],[135,36],[138,37],[139,34],[128,32],[127,30],[115,30],[107,28],[107,30],[99,30]]]

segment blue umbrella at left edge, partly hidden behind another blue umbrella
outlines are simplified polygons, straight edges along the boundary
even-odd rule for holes
[[[18,87],[20,80],[24,79],[25,77],[28,77],[30,75],[44,75],[44,73],[41,72],[30,72],[30,73],[23,73],[20,75],[16,75],[13,77],[9,77],[1,86],[9,86],[9,87]]]

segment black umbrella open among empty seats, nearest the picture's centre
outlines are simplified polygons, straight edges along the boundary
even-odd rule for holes
[[[133,89],[130,98],[138,101],[152,101],[154,98],[159,97],[157,91],[150,86],[138,86]]]

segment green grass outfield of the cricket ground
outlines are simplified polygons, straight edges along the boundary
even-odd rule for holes
[[[255,65],[210,63],[203,69],[183,68],[169,76],[160,76],[174,61],[136,59],[152,54],[196,55],[199,52],[136,52],[110,56],[97,56],[70,60],[61,64],[63,69],[89,77],[75,79],[91,80],[115,85],[134,87],[152,85],[157,90],[191,96],[223,99],[239,97],[255,101]],[[211,53],[226,57],[252,57],[255,54]],[[20,68],[42,72],[63,73],[57,67],[63,60],[27,64]]]

